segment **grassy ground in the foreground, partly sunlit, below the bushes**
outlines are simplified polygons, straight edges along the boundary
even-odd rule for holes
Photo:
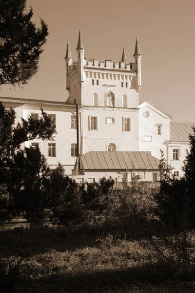
[[[191,293],[195,269],[176,275],[150,238],[132,230],[16,227],[0,231],[2,293]]]

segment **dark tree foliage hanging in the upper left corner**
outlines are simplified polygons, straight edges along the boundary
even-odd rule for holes
[[[26,0],[0,1],[0,85],[27,84],[38,71],[48,28],[42,19],[36,28],[25,7]]]

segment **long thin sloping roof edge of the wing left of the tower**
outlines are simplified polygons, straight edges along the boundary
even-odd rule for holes
[[[37,100],[37,99],[20,99],[20,98],[11,98],[11,97],[0,97],[0,102],[18,103],[18,104],[53,105],[53,106],[75,105],[75,104],[71,104],[67,102],[46,101],[46,100]]]

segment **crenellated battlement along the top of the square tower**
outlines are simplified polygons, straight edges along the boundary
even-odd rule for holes
[[[122,71],[136,71],[135,63],[113,62],[112,60],[105,60],[104,62],[98,59],[84,59],[84,66],[86,68],[94,69],[116,69]]]

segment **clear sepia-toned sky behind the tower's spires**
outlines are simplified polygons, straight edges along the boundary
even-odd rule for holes
[[[3,85],[4,97],[66,101],[65,52],[73,62],[81,30],[85,58],[135,62],[136,37],[142,54],[139,103],[149,100],[173,116],[195,123],[195,0],[27,0],[33,21],[41,17],[49,36],[39,72],[23,88]]]

